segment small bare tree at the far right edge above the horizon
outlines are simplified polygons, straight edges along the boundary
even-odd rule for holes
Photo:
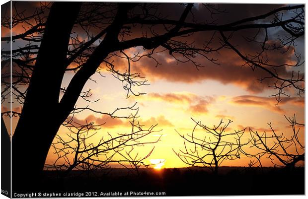
[[[285,136],[284,133],[276,133],[271,123],[268,123],[270,133],[258,133],[249,129],[251,135],[250,147],[256,149],[257,152],[250,153],[242,148],[241,152],[247,157],[255,158],[250,162],[251,166],[259,164],[262,167],[261,158],[263,156],[269,158],[275,166],[284,166],[290,170],[293,170],[295,164],[299,161],[305,161],[305,143],[302,140],[303,138],[300,137],[301,127],[304,127],[305,124],[298,123],[295,115],[292,118],[287,116],[285,118],[292,128],[289,137]],[[280,164],[274,162],[275,160],[278,160]]]

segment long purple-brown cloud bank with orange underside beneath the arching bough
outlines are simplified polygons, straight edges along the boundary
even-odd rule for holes
[[[243,44],[244,45],[244,44]],[[255,53],[253,47],[242,47],[241,52]],[[196,63],[204,67],[196,68],[191,63],[170,62],[170,55],[162,52],[153,55],[161,64],[156,67],[154,60],[144,58],[134,63],[133,70],[140,72],[147,79],[154,82],[165,80],[170,82],[198,83],[204,80],[216,80],[222,84],[232,84],[243,88],[250,93],[260,93],[266,89],[271,89],[268,85],[273,85],[274,79],[264,79],[261,83],[258,79],[268,76],[268,73],[260,68],[252,70],[249,66],[243,66],[244,62],[229,49],[220,51],[220,54],[213,53],[213,57],[219,59],[219,65],[214,65],[202,57],[194,59]],[[291,64],[293,52],[269,53],[271,64]],[[286,67],[276,69],[280,76],[291,76],[291,71]]]

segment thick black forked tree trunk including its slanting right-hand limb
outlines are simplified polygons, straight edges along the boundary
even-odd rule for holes
[[[110,52],[118,50],[117,35],[131,7],[125,4],[119,6],[103,42],[74,75],[59,103],[68,43],[80,3],[53,4],[22,114],[13,135],[13,189],[39,190],[39,185],[44,186],[39,179],[52,141],[74,109],[85,82]]]

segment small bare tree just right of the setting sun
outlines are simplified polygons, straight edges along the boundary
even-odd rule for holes
[[[214,174],[218,174],[219,166],[224,160],[234,160],[239,158],[239,148],[247,143],[240,143],[240,138],[245,132],[245,129],[227,133],[228,126],[232,123],[231,120],[224,125],[223,120],[218,126],[213,128],[202,125],[201,122],[196,122],[191,134],[178,133],[184,141],[184,150],[179,150],[175,154],[187,165],[194,167],[209,168]],[[197,128],[202,128],[204,131],[196,133]],[[232,140],[233,139],[233,140]],[[187,143],[192,145],[192,148],[187,147]]]

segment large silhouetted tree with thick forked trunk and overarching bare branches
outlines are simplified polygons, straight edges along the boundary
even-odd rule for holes
[[[132,72],[130,63],[150,58],[158,65],[155,54],[167,51],[177,62],[191,63],[198,68],[202,65],[196,58],[219,64],[212,53],[227,48],[235,52],[245,66],[253,70],[259,68],[268,74],[260,81],[273,80],[269,86],[278,91],[273,94],[277,102],[282,95],[289,96],[286,88],[294,88],[299,95],[305,91],[303,73],[291,69],[294,72],[290,75],[279,70],[303,64],[294,48],[297,39],[305,33],[303,4],[277,6],[261,15],[217,23],[215,16],[225,11],[218,4],[201,4],[208,10],[207,19],[197,21],[193,3],[181,3],[181,13],[172,17],[161,14],[159,8],[163,4],[158,3],[42,2],[33,13],[29,13],[31,9],[24,9],[32,4],[20,3],[12,3],[12,18],[5,15],[1,18],[2,27],[10,28],[11,23],[13,29],[20,24],[24,27],[21,34],[1,37],[2,43],[18,43],[13,45],[12,51],[1,52],[1,100],[7,102],[11,94],[14,101],[22,105],[12,137],[13,179],[18,179],[14,182],[20,185],[31,186],[21,179],[33,179],[33,182],[39,179],[53,139],[70,114],[81,110],[106,114],[90,107],[76,107],[78,98],[90,102],[90,92],[83,91],[83,87],[102,66],[123,82],[128,98],[132,94],[144,94],[136,92],[135,86],[147,85],[143,76]],[[288,14],[284,15],[285,12]],[[274,39],[275,42],[268,37],[271,28],[282,31],[283,36]],[[249,35],[254,36],[250,38],[246,30],[252,31]],[[87,38],[80,39],[78,32],[85,33]],[[197,32],[209,36],[201,45],[190,41],[194,40],[191,35]],[[234,43],[232,38],[241,34],[247,39],[243,45],[259,44],[255,54],[241,52]],[[127,51],[135,47],[142,47],[145,52],[130,57]],[[277,53],[294,51],[295,63],[277,65],[270,62],[267,53],[274,50]],[[5,70],[10,68],[10,58],[12,90],[10,71]],[[127,61],[125,71],[116,69],[115,58]],[[68,86],[62,87],[68,71],[75,74]]]

